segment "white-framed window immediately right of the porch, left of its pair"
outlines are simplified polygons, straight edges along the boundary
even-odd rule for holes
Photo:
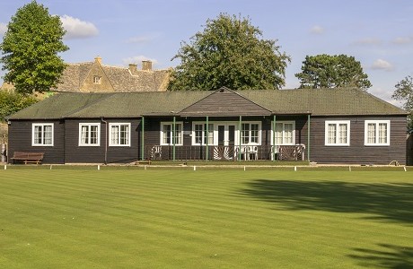
[[[350,121],[326,121],[325,137],[326,145],[350,145]]]

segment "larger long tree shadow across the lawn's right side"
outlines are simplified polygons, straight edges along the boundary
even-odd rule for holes
[[[381,221],[413,223],[413,184],[348,183],[256,179],[242,195],[287,210],[367,213]]]

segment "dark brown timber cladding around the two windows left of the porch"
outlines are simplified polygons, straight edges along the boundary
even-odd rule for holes
[[[138,124],[140,120],[134,118],[120,119],[66,119],[66,163],[104,163],[105,155],[107,163],[127,163],[138,159]],[[79,124],[99,123],[101,126],[100,146],[79,146]],[[106,133],[110,123],[131,124],[130,146],[110,146],[109,131]],[[105,149],[107,153],[105,154]]]

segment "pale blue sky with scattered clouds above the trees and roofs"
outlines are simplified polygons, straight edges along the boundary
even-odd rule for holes
[[[0,0],[0,39],[17,9],[30,0]],[[38,0],[66,29],[66,63],[91,62],[127,67],[152,60],[154,69],[179,65],[182,42],[204,30],[220,13],[248,17],[291,56],[286,86],[299,86],[305,56],[355,56],[373,87],[368,92],[391,101],[395,84],[413,75],[412,0]],[[4,71],[0,71],[0,76]],[[0,78],[0,83],[3,79]]]

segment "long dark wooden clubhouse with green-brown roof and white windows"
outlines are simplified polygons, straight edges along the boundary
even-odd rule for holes
[[[353,88],[67,92],[9,117],[8,152],[44,152],[43,163],[404,164],[406,117]]]

